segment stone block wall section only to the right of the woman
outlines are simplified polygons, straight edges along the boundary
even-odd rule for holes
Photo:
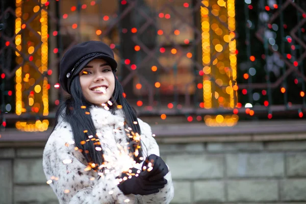
[[[160,144],[172,203],[306,203],[306,141]]]

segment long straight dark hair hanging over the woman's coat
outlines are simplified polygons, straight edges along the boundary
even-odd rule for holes
[[[115,73],[114,77],[115,90],[112,95],[112,98],[110,99],[113,103],[113,106],[111,107],[110,111],[113,111],[114,113],[114,111],[117,109],[116,105],[121,105],[125,117],[125,122],[129,127],[131,127],[131,132],[138,133],[139,135],[141,135],[136,111],[123,97],[123,88],[119,83]],[[92,104],[85,99],[82,93],[79,75],[77,75],[72,80],[70,92],[70,97],[63,101],[58,107],[58,110],[56,112],[56,122],[52,132],[56,129],[56,126],[59,123],[59,117],[62,117],[64,121],[70,124],[75,146],[77,146],[79,150],[82,151],[82,154],[84,155],[86,161],[89,164],[95,164],[95,166],[99,166],[104,163],[103,149],[101,151],[96,150],[96,147],[101,147],[101,145],[99,142],[95,141],[95,139],[98,139],[98,137],[96,136],[96,129],[91,116],[89,114],[85,114],[85,112],[90,112],[89,107],[92,106]],[[86,108],[84,109],[84,107]],[[137,123],[135,124],[134,121],[136,121]],[[92,137],[89,138],[88,136]],[[141,142],[139,141],[139,143],[136,144],[135,142],[133,142],[133,138],[130,138],[128,136],[126,137],[129,138],[129,150],[133,154],[134,160],[137,163],[140,163],[140,158],[143,157]],[[140,146],[140,149],[139,154],[136,157],[134,152],[136,150],[137,145]],[[94,169],[96,170],[97,168]]]

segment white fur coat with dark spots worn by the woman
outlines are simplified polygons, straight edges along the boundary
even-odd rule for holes
[[[118,144],[126,146],[126,134],[123,127],[123,112],[115,115],[103,108],[91,107],[90,114],[96,127],[105,160],[116,161],[114,152]],[[150,126],[138,119],[141,128],[141,140],[146,148],[143,157],[159,154],[159,146],[152,137]],[[165,176],[168,183],[160,192],[150,195],[124,195],[115,183],[116,171],[106,173],[99,180],[97,172],[87,170],[87,162],[78,150],[75,150],[70,125],[59,121],[50,135],[43,152],[43,170],[49,185],[64,203],[169,203],[174,195],[170,171]],[[146,151],[147,149],[147,151]],[[127,154],[126,154],[127,155]],[[119,162],[120,163],[120,162]],[[118,173],[118,172],[117,172]]]

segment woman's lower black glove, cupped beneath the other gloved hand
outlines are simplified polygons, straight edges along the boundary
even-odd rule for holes
[[[118,188],[125,194],[134,194],[134,195],[149,195],[153,193],[158,193],[160,188],[164,188],[167,181],[148,181],[144,179],[143,172],[139,169],[132,168],[130,173],[122,173],[122,175],[117,177],[117,179],[123,179],[124,177],[129,177],[132,175],[131,179],[126,179],[125,181],[120,182]],[[138,174],[138,176],[136,176]]]

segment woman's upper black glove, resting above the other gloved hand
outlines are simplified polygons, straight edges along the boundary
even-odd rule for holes
[[[157,155],[149,155],[142,164],[142,170],[144,178],[149,181],[166,180],[164,176],[169,172],[164,160]]]

